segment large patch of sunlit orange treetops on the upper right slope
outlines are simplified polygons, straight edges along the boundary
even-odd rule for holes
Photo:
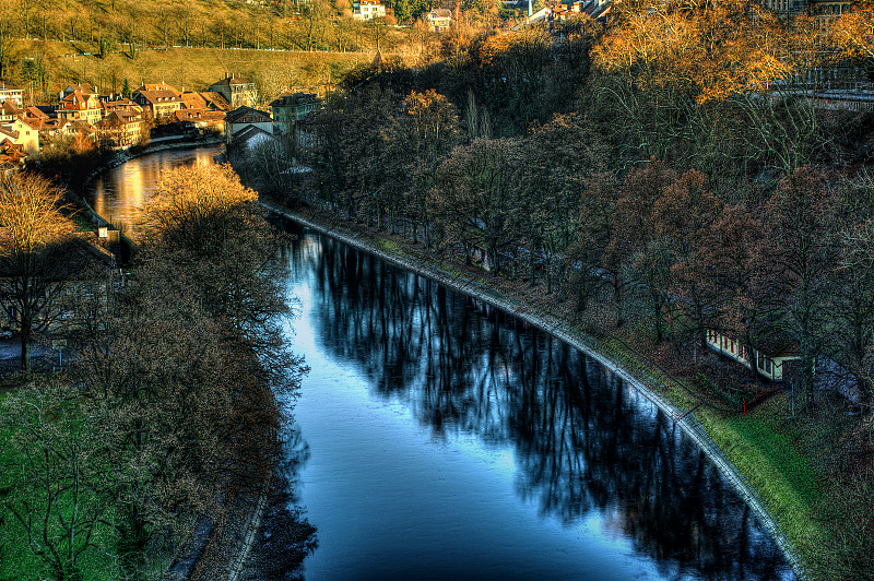
[[[795,72],[792,32],[756,4],[672,0],[616,8],[621,14],[594,47],[594,63],[640,90],[689,88],[705,104],[767,91]]]

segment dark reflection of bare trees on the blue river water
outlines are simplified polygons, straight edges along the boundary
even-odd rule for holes
[[[782,556],[674,423],[576,349],[330,240],[304,239],[312,324],[435,435],[512,442],[518,494],[570,524],[598,511],[664,576],[770,578]]]

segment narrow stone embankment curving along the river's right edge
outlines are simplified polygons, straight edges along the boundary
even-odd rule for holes
[[[787,560],[791,565],[793,571],[799,579],[804,579],[804,567],[794,547],[790,541],[780,530],[779,524],[765,507],[764,502],[759,499],[756,491],[746,481],[746,478],[737,471],[736,466],[725,456],[712,439],[707,435],[704,427],[695,419],[693,410],[682,410],[668,401],[661,394],[660,383],[663,381],[651,369],[635,366],[634,372],[626,365],[626,361],[614,359],[612,356],[599,349],[599,343],[594,337],[588,336],[577,329],[574,329],[567,321],[560,320],[551,315],[541,312],[533,307],[525,305],[512,297],[504,295],[493,288],[480,284],[472,284],[473,278],[466,280],[464,277],[453,275],[446,272],[434,264],[414,261],[409,257],[398,254],[394,252],[386,252],[366,240],[358,237],[356,233],[341,230],[336,227],[315,222],[306,216],[295,213],[286,208],[280,206],[269,201],[261,201],[261,204],[279,215],[302,224],[315,232],[324,234],[332,238],[336,238],[344,244],[347,244],[361,251],[374,254],[379,259],[401,266],[403,269],[416,272],[427,278],[438,282],[458,293],[465,294],[477,300],[488,303],[510,315],[513,315],[529,324],[532,324],[546,333],[550,333],[569,345],[582,351],[593,359],[598,360],[601,365],[616,374],[623,380],[634,386],[635,389],[640,391],[649,401],[671,417],[681,429],[701,448],[707,456],[720,470],[723,476],[734,486],[737,493],[746,501],[751,510],[756,514],[761,524],[771,533],[772,537],[780,546],[780,549],[786,555]],[[475,278],[475,277],[474,277]]]

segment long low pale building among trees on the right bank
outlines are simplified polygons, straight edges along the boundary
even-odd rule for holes
[[[751,345],[714,329],[707,330],[707,346],[771,381],[783,381],[790,361],[800,358],[791,342],[771,339]]]

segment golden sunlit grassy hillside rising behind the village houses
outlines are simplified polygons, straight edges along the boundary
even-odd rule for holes
[[[0,5],[0,79],[47,100],[69,82],[103,92],[123,80],[204,88],[226,72],[249,76],[261,93],[331,84],[377,49],[406,60],[437,37],[395,27],[391,17],[351,19],[341,0],[244,3],[222,0],[72,0]]]

